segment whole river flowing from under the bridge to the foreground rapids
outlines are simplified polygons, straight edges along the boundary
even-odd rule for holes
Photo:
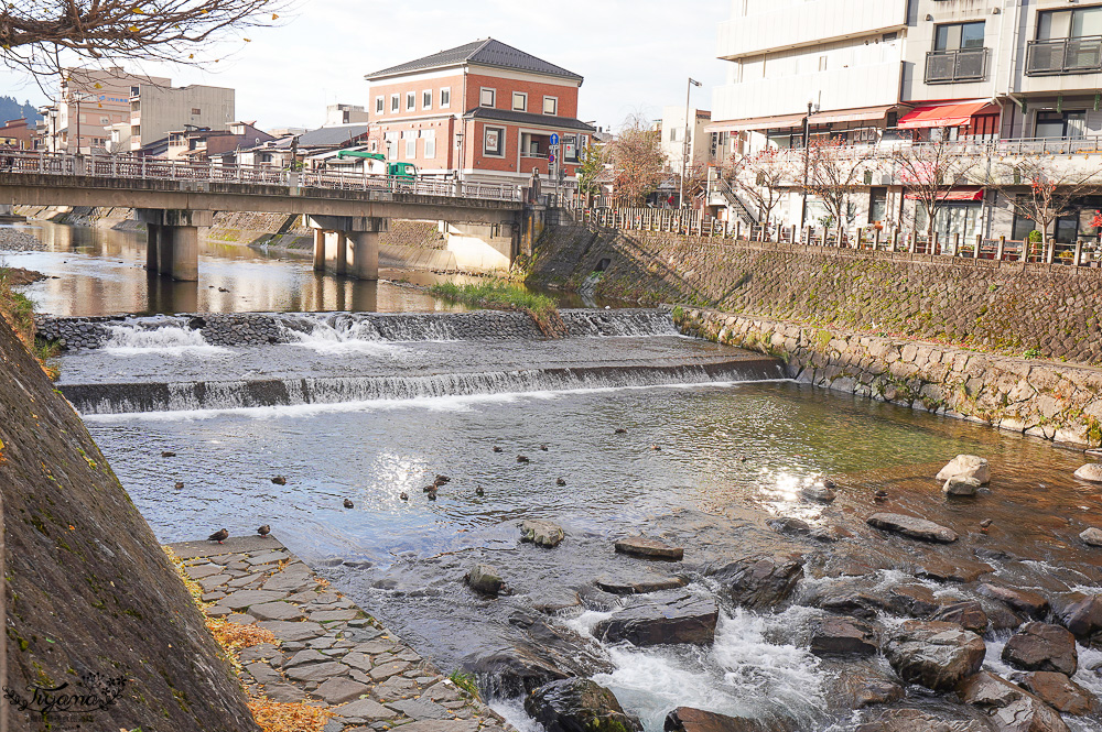
[[[359,308],[364,285],[329,284],[302,262],[209,250],[199,306],[177,308],[173,296],[165,307],[142,289],[144,273],[112,278],[111,258],[118,267],[140,266],[134,240],[118,245],[109,255],[101,242],[9,261],[42,269],[37,262],[63,277],[32,288],[55,314],[93,314],[79,298],[98,283],[91,309],[278,310],[266,317],[287,332],[272,345],[213,345],[186,318],[129,317],[109,326],[100,348],[61,358],[60,387],[158,537],[194,539],[223,526],[249,534],[270,524],[445,673],[478,671],[498,709],[520,725],[528,723],[509,698],[510,675],[534,655],[594,676],[648,732],[661,730],[677,706],[843,732],[874,710],[841,703],[840,679],[890,670],[880,656],[810,653],[808,629],[824,614],[817,600],[824,589],[921,586],[943,599],[979,599],[1004,618],[971,578],[933,579],[937,567],[986,562],[986,581],[1050,598],[1102,592],[1096,550],[1077,538],[1099,524],[1099,489],[1072,477],[1081,454],[786,381],[753,354],[681,337],[661,312],[568,313],[573,335],[560,341],[510,336],[516,324],[493,314],[444,326],[425,315],[309,315],[446,308],[386,283],[368,288],[372,307]],[[73,259],[74,250],[86,259]],[[213,276],[233,298],[205,292]],[[299,286],[314,295],[299,299]],[[264,389],[249,385],[258,381]],[[990,490],[942,495],[932,477],[958,454],[991,461]],[[440,473],[451,481],[430,501],[422,488]],[[277,476],[285,485],[272,482]],[[799,488],[824,476],[838,483],[838,499],[802,502]],[[962,538],[940,547],[888,537],[864,523],[876,511],[925,516]],[[768,524],[778,517],[839,529],[841,540],[778,532]],[[554,549],[521,544],[525,518],[554,521],[566,539]],[[684,546],[685,561],[656,566],[613,550],[614,540],[635,534]],[[796,593],[760,611],[721,597],[712,645],[637,648],[594,636],[625,602],[596,589],[598,579],[681,575],[685,592],[720,597],[711,568],[778,553],[806,562]],[[464,573],[478,562],[500,571],[507,594],[488,599],[465,587]],[[882,632],[899,622],[877,613]],[[1008,636],[986,636],[985,666],[1004,676],[1012,673],[1000,657]],[[1078,651],[1074,680],[1102,696],[1102,652]],[[946,719],[975,714],[916,687],[904,703]],[[1102,731],[1098,719],[1066,720],[1076,732]]]

